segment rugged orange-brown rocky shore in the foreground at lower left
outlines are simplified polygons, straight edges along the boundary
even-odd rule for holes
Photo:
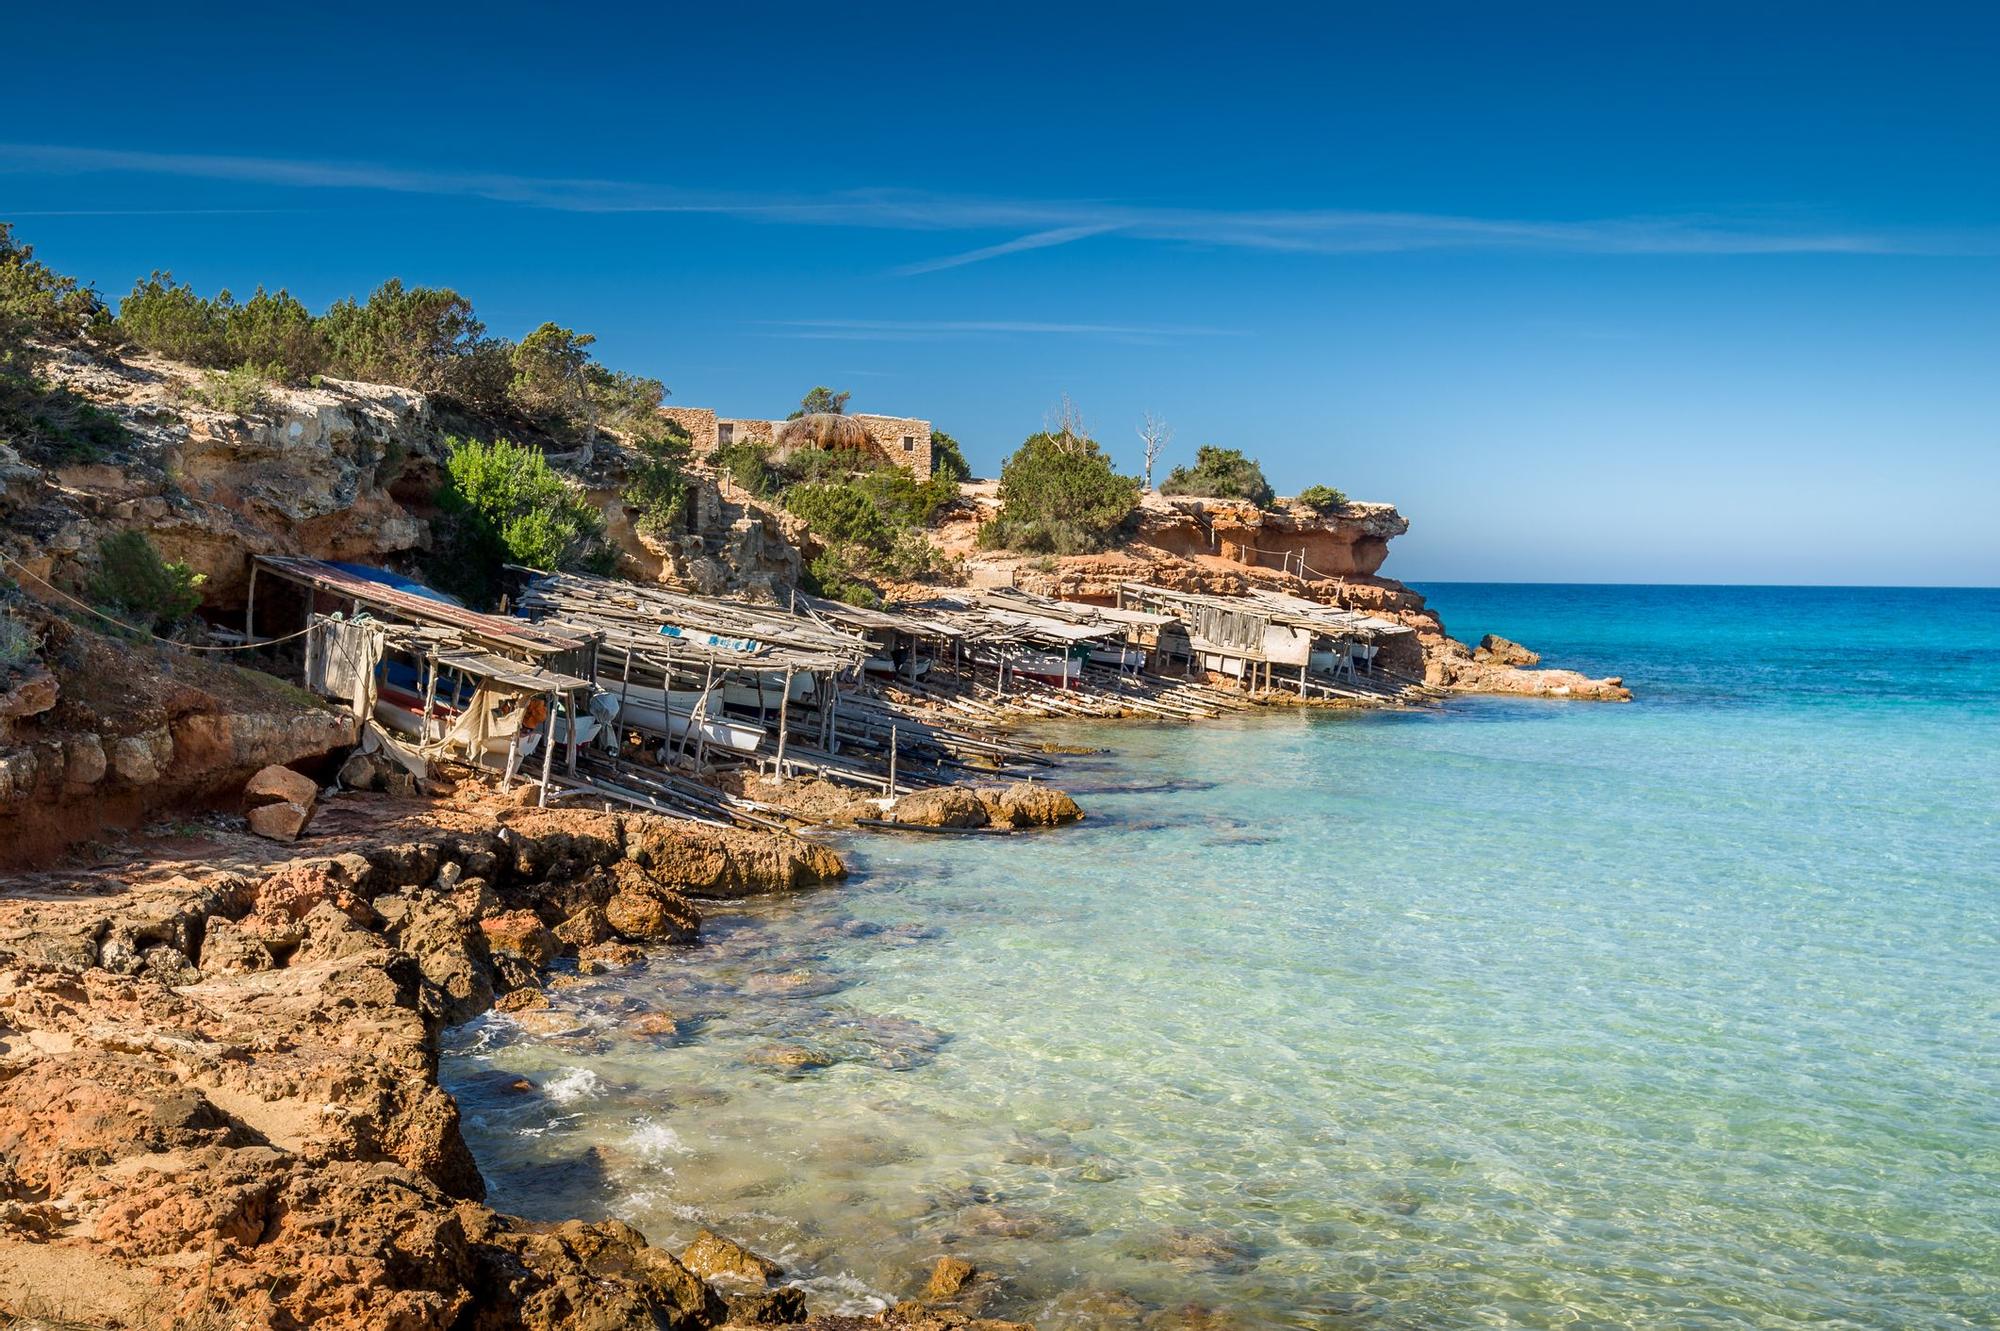
[[[620,893],[692,913],[668,879],[838,871],[822,847],[756,839],[344,795],[308,857],[214,831],[178,857],[16,879],[0,895],[0,1317],[722,1323],[730,1305],[628,1225],[484,1207],[436,1037],[616,931],[604,903]],[[580,917],[594,927],[572,929]],[[764,1271],[722,1239],[704,1253]]]

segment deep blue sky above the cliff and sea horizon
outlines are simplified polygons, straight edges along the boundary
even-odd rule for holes
[[[2000,584],[1982,6],[286,8],[22,6],[0,218],[986,474],[1152,410],[1408,580]]]

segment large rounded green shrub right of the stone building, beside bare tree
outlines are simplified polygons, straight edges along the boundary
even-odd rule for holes
[[[1000,516],[980,544],[1040,554],[1104,550],[1138,504],[1138,478],[1120,476],[1096,440],[1032,434],[1000,470]]]

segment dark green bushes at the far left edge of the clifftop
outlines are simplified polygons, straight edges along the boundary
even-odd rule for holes
[[[0,444],[46,462],[88,462],[126,440],[110,412],[48,382],[50,346],[112,336],[98,294],[54,272],[0,222]]]

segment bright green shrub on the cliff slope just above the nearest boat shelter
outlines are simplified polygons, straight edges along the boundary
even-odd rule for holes
[[[434,576],[474,602],[492,600],[502,564],[610,572],[604,514],[540,450],[510,440],[446,440]]]

